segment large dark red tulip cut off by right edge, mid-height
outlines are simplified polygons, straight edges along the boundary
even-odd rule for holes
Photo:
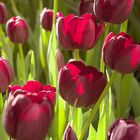
[[[111,69],[123,74],[132,73],[140,65],[140,45],[124,32],[110,33],[103,45],[103,58]]]

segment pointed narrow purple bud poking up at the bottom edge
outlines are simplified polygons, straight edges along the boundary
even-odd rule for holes
[[[70,125],[65,130],[64,140],[78,140],[74,130]]]

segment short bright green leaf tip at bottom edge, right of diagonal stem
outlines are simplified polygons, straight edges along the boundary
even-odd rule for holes
[[[92,126],[92,124],[90,124],[87,140],[96,140],[96,135],[97,135],[97,132],[95,128]]]

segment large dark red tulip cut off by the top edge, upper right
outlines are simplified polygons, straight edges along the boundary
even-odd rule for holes
[[[133,4],[134,0],[95,0],[93,9],[97,19],[120,24],[128,18]]]

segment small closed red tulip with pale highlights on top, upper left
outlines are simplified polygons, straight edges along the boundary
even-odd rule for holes
[[[14,43],[25,43],[29,38],[28,24],[25,19],[15,16],[7,21],[6,32]]]

